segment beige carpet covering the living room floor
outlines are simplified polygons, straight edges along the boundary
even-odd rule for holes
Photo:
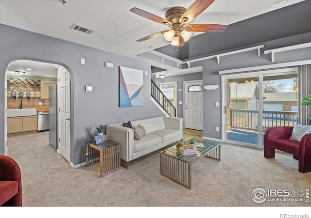
[[[257,188],[302,190],[311,173],[298,172],[298,161],[276,153],[222,143],[222,160],[202,157],[192,167],[192,189],[159,174],[159,153],[99,178],[98,165],[55,171],[23,188],[23,206],[310,206],[306,202],[251,199]]]

